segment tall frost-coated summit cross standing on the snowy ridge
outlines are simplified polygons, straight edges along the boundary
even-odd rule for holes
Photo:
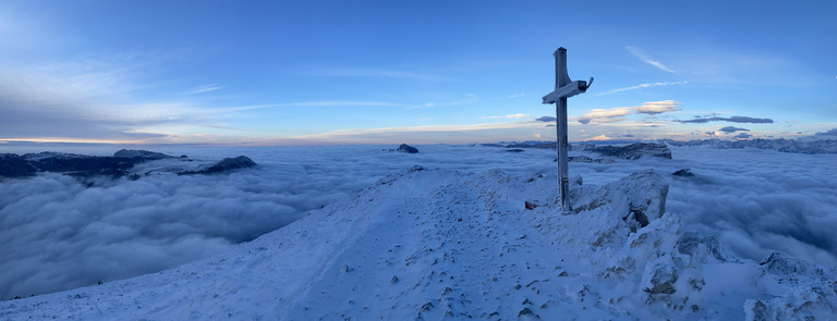
[[[570,210],[570,183],[567,174],[567,98],[587,90],[593,84],[593,77],[590,83],[584,81],[570,81],[567,75],[567,49],[563,47],[555,50],[555,90],[544,96],[544,103],[555,102],[556,128],[558,131],[558,141],[555,148],[558,150],[558,199],[561,201],[561,210]]]

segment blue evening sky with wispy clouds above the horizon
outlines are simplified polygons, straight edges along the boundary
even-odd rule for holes
[[[835,1],[3,1],[0,140],[796,138],[837,127]],[[546,118],[545,118],[546,116]]]

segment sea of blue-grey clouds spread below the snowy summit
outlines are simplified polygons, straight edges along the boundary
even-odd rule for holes
[[[416,155],[384,150],[396,147],[148,147],[206,160],[245,155],[259,165],[218,175],[102,181],[94,187],[60,174],[2,181],[0,298],[153,273],[218,254],[415,164],[555,177],[553,150],[514,153],[444,145],[417,146]],[[0,152],[15,153],[106,156],[118,149],[0,145]],[[830,233],[837,227],[837,156],[707,147],[672,151],[674,160],[571,163],[570,172],[585,184],[605,184],[648,168],[665,175],[691,168],[694,176],[669,176],[668,210],[686,215],[688,229],[717,236],[747,259],[777,250],[837,263],[837,236]]]

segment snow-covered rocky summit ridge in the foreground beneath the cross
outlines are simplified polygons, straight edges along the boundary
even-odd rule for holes
[[[581,181],[561,213],[555,176],[415,166],[232,251],[2,301],[0,319],[835,317],[834,269],[686,232],[657,173]]]

